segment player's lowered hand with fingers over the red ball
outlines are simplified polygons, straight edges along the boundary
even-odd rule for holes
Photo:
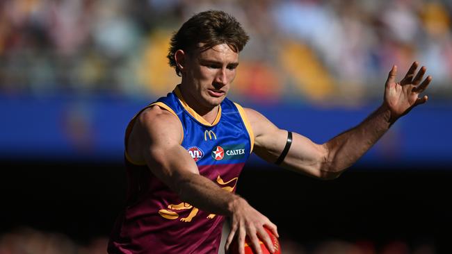
[[[230,250],[231,243],[234,240],[237,242],[239,254],[245,254],[246,237],[248,237],[248,245],[252,248],[254,253],[264,254],[262,253],[260,241],[265,244],[266,248],[271,251],[271,253],[277,251],[273,243],[274,241],[264,228],[268,228],[273,235],[279,237],[275,224],[255,210],[255,208],[252,208],[243,198],[237,198],[236,201],[234,201],[232,211],[231,232],[229,233],[225,244],[226,253]]]

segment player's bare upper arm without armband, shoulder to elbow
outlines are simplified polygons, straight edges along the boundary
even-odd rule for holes
[[[152,173],[177,192],[179,180],[199,174],[196,164],[179,142],[181,123],[166,110],[146,110],[137,119],[134,139]]]

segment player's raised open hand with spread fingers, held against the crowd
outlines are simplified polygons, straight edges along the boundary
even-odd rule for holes
[[[421,83],[427,68],[425,66],[421,67],[417,75],[414,76],[418,66],[419,62],[413,62],[405,78],[397,83],[397,66],[394,65],[391,71],[389,71],[385,85],[385,104],[391,110],[391,121],[395,121],[398,117],[410,112],[415,106],[425,103],[428,100],[428,96],[424,95],[419,97],[419,94],[427,89],[430,81],[432,81],[432,76],[427,76]]]

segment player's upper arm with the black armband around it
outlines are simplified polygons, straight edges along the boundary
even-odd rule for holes
[[[255,153],[267,162],[276,162],[286,146],[287,130],[277,128],[255,110],[247,108],[245,112],[255,133]],[[291,147],[281,165],[298,173],[321,177],[326,155],[325,146],[293,133]]]

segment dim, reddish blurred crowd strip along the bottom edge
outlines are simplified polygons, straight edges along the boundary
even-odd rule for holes
[[[77,244],[66,235],[44,232],[33,228],[19,228],[0,235],[1,254],[106,254],[106,237],[97,237],[88,244]],[[348,242],[328,239],[300,244],[289,238],[280,238],[284,254],[435,254],[430,243],[392,241],[376,244],[369,240]],[[223,247],[220,254],[224,253]]]

